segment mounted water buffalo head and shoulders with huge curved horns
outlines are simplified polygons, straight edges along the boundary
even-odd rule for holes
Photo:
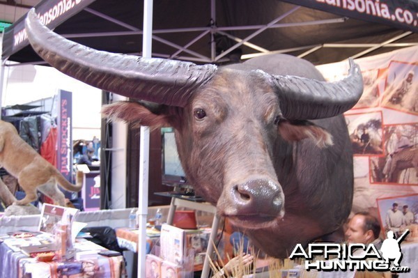
[[[353,201],[353,155],[341,114],[363,91],[358,65],[325,82],[287,55],[226,68],[90,49],[26,18],[33,49],[76,79],[131,98],[111,119],[175,129],[188,180],[266,254],[288,256],[339,229]],[[133,100],[132,100],[133,99]]]

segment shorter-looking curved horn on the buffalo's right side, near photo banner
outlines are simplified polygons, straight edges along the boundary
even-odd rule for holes
[[[329,118],[352,108],[363,93],[359,66],[350,61],[348,77],[339,82],[320,82],[304,77],[273,75],[283,116],[288,119]]]

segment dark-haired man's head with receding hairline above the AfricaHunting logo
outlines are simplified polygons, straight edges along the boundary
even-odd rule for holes
[[[351,243],[369,244],[380,234],[380,224],[376,217],[369,213],[356,213],[348,222],[346,241]]]

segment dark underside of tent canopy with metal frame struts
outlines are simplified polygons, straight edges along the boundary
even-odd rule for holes
[[[318,65],[342,61],[349,56],[376,55],[418,43],[417,33],[353,20],[283,1],[218,0],[215,1],[215,18],[211,17],[210,3],[210,0],[154,1],[153,56],[195,63],[228,63],[228,59],[236,58],[237,54],[242,54],[242,59],[245,59],[260,51],[285,52],[302,56]],[[95,49],[140,55],[143,5],[143,1],[137,0],[95,1],[58,26],[55,31]],[[276,20],[286,13],[287,16]],[[274,20],[277,22],[274,23]],[[276,24],[273,28],[261,31],[263,26],[273,23]],[[235,28],[238,26],[252,27]],[[190,31],[191,28],[196,31]],[[172,29],[188,30],[173,32]],[[214,36],[216,55],[233,47],[236,43],[233,38],[245,39],[250,36],[248,43],[261,49],[240,45],[222,59],[215,59],[211,57],[210,30],[217,32]],[[204,31],[208,33],[203,33]],[[394,40],[397,36],[404,37]],[[194,39],[196,42],[187,49],[182,49]],[[387,44],[390,40],[394,41]],[[358,55],[371,47],[376,49]],[[308,51],[312,52],[308,54]],[[28,46],[10,56],[9,60],[36,63],[40,58]]]

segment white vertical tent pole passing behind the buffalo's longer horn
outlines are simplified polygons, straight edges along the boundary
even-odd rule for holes
[[[153,0],[144,1],[144,36],[142,38],[142,54],[150,58],[153,33]],[[146,217],[148,215],[148,166],[150,148],[150,129],[141,126],[141,142],[139,146],[139,238],[138,238],[138,277],[145,277],[146,254]]]

